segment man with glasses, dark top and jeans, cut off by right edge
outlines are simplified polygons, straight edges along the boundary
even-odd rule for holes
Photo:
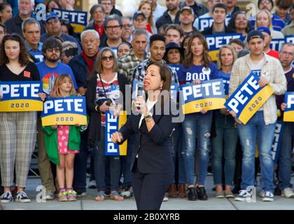
[[[285,43],[280,52],[281,65],[287,79],[287,92],[294,92],[294,68],[292,62],[294,60],[294,45],[293,43]],[[281,111],[284,111],[286,104],[284,96],[276,96],[276,103]],[[281,116],[283,118],[283,116]],[[281,119],[282,120],[282,119]],[[294,123],[285,122],[283,127],[283,138],[279,151],[279,189],[283,197],[294,197],[291,181],[291,153],[292,143],[294,139]]]

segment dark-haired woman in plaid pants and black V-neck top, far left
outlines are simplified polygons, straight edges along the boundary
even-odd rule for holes
[[[40,80],[38,69],[29,62],[29,53],[25,43],[18,34],[6,35],[0,47],[0,80],[1,81],[33,81]],[[20,92],[13,89],[14,94]],[[15,92],[16,90],[16,92]],[[27,91],[29,92],[29,91]],[[2,98],[0,92],[0,100]],[[10,92],[10,94],[12,94]],[[45,94],[38,94],[45,99]],[[17,202],[30,202],[24,191],[27,185],[27,174],[31,162],[31,154],[36,144],[36,111],[1,112],[0,113],[0,165],[4,193],[0,201],[13,201],[10,186],[13,186],[15,168],[15,186]]]

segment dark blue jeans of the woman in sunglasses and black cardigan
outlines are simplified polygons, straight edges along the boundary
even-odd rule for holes
[[[106,159],[109,158],[111,173],[111,191],[118,191],[118,181],[120,179],[120,156],[105,155],[105,127],[101,127],[101,141],[95,142],[95,179],[97,191],[105,191]]]

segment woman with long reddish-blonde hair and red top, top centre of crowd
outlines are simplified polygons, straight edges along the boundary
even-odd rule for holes
[[[147,19],[146,30],[151,34],[156,34],[157,30],[155,27],[155,22],[153,21],[153,6],[151,0],[141,0],[139,3],[139,11],[144,13]]]

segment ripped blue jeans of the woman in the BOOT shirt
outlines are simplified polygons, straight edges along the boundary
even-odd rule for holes
[[[199,184],[204,186],[207,177],[207,166],[209,162],[209,144],[211,131],[212,111],[205,114],[193,113],[187,114],[182,123],[184,134],[184,161],[186,169],[186,177],[188,185],[194,185],[194,171],[195,171],[195,151],[196,138],[197,146],[200,151],[200,172]]]

